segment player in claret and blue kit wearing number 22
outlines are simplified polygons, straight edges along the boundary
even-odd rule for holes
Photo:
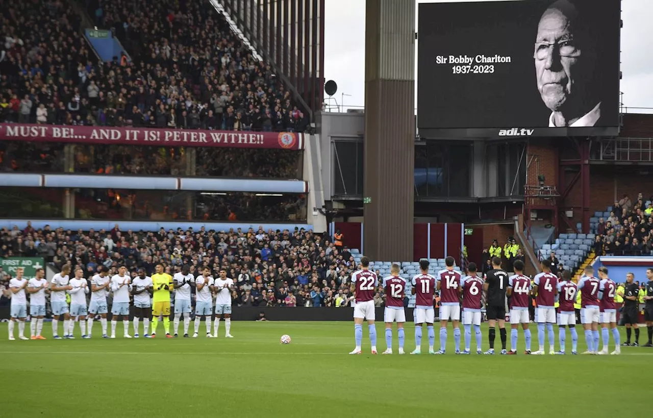
[[[376,273],[370,270],[370,259],[362,257],[360,259],[361,269],[351,275],[351,293],[355,295],[356,304],[354,305],[354,336],[356,347],[349,354],[360,354],[360,343],[363,339],[363,321],[368,321],[370,330],[370,343],[372,344],[372,354],[376,354],[376,326],[374,325],[374,291],[379,285],[379,279]]]

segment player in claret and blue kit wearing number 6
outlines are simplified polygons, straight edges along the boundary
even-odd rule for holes
[[[470,354],[471,325],[476,334],[476,353],[481,351],[481,295],[483,295],[483,279],[476,275],[476,263],[470,263],[467,271],[470,274],[460,281],[462,293],[462,325],[465,327],[465,350],[460,354]]]

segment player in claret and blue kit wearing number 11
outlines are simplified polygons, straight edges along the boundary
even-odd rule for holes
[[[435,354],[433,349],[436,343],[436,332],[433,329],[433,321],[436,317],[433,309],[433,293],[436,290],[436,278],[428,274],[428,260],[419,261],[420,274],[413,277],[413,288],[411,292],[415,295],[415,350],[411,354],[422,352],[422,324],[426,323],[428,330],[428,353]]]

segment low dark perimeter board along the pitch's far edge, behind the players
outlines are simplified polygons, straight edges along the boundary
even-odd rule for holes
[[[133,309],[133,308],[132,308]],[[383,309],[376,308],[376,320],[383,322]],[[267,308],[267,307],[235,307],[231,318],[234,321],[255,321],[265,315],[268,321],[351,321],[353,308]],[[436,310],[437,312],[437,310]],[[111,319],[111,313],[108,318]],[[48,318],[50,315],[48,315]],[[133,317],[133,315],[130,315]],[[0,320],[9,319],[9,308],[0,308]],[[406,319],[413,320],[413,308],[406,308]]]

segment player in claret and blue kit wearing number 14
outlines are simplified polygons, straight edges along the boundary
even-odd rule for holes
[[[456,354],[460,354],[460,280],[462,274],[453,269],[453,257],[445,259],[447,268],[438,272],[438,291],[440,292],[440,349],[436,354],[444,354],[447,348],[447,322],[453,325],[453,337],[456,344]]]

